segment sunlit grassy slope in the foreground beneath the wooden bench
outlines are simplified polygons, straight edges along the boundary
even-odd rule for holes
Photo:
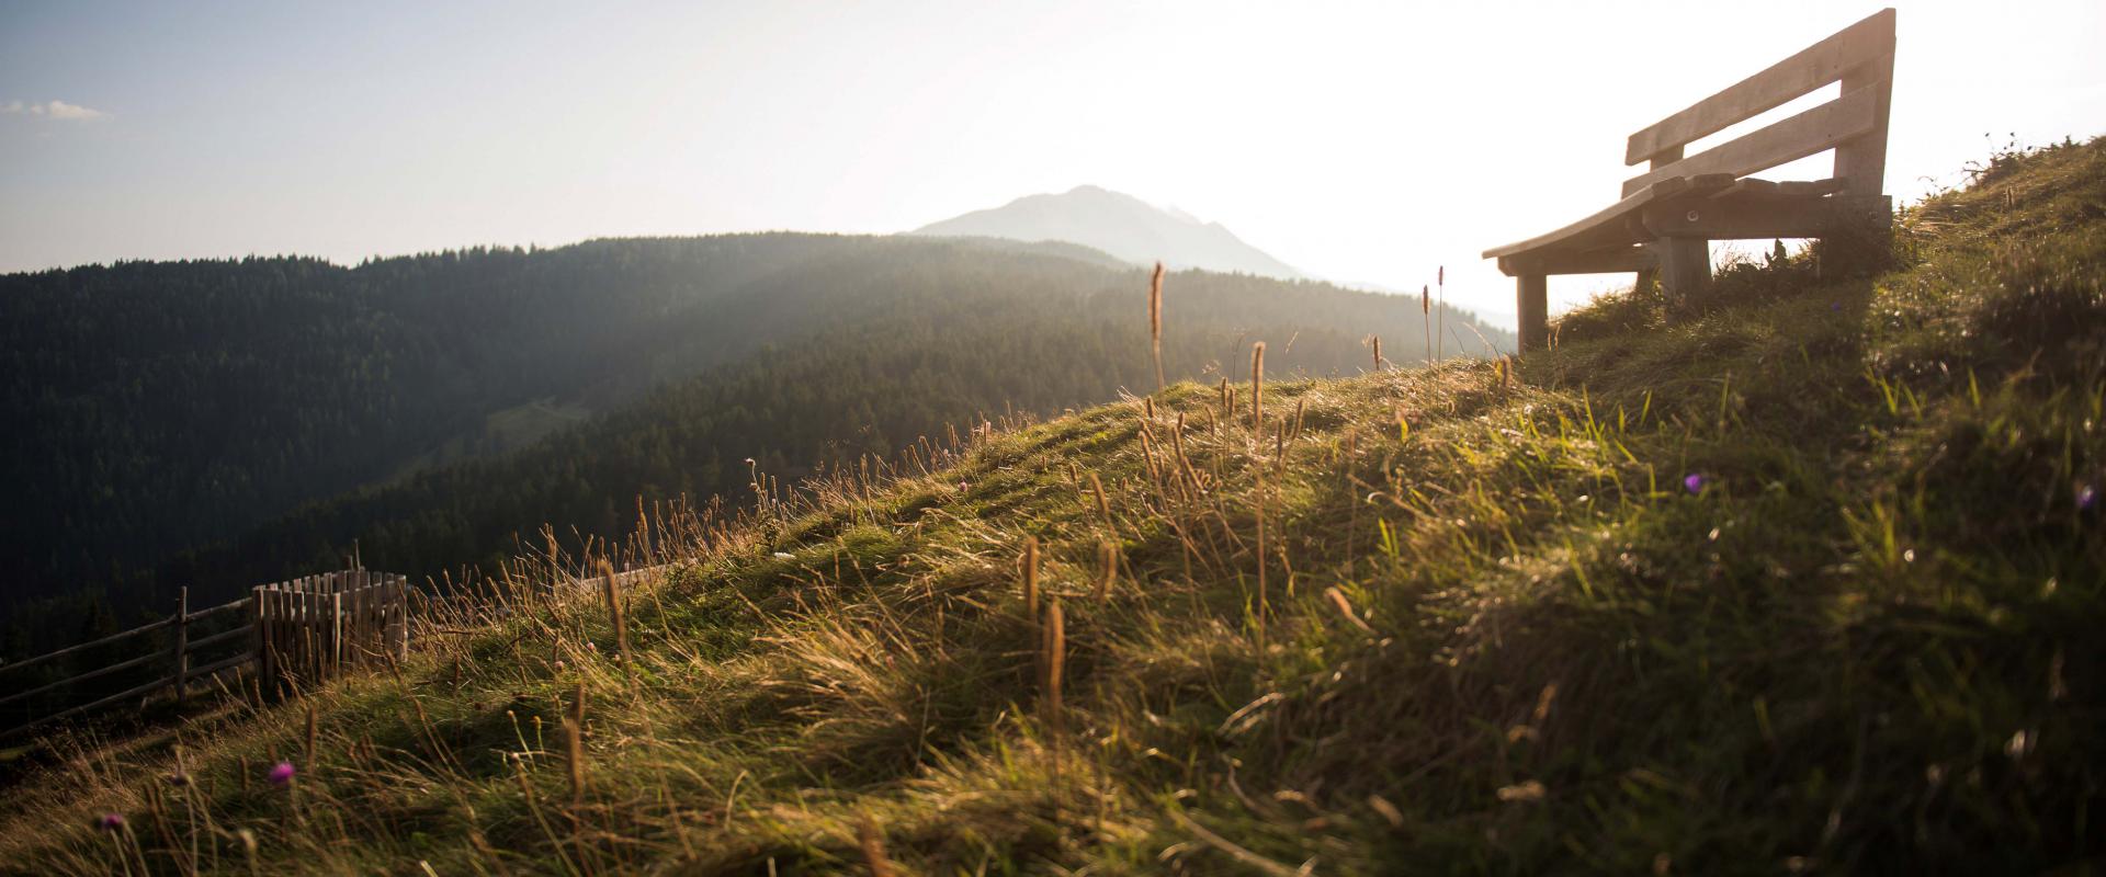
[[[398,671],[59,742],[0,862],[2081,871],[2102,206],[2106,143],[2005,156],[1876,280],[1742,267],[1512,374],[1268,385],[1257,429],[1184,383],[687,522],[625,660],[522,566]]]

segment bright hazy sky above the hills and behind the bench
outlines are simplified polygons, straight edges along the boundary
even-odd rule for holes
[[[1478,250],[1605,206],[1632,130],[1879,6],[0,0],[0,271],[891,233],[1095,183],[1325,278],[1445,263],[1512,313]],[[1887,191],[2106,132],[2106,2],[1898,8]]]

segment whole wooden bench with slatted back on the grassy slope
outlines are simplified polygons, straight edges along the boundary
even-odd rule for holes
[[[1830,82],[1843,97],[1740,139],[1683,156],[1683,147]],[[1624,149],[1649,162],[1605,210],[1546,236],[1485,250],[1514,278],[1521,347],[1550,341],[1552,273],[1638,271],[1670,301],[1710,284],[1712,240],[1826,238],[1885,229],[1887,105],[1893,95],[1893,11],[1885,8],[1693,107],[1660,120]],[[1771,183],[1748,175],[1834,149],[1834,175]]]

